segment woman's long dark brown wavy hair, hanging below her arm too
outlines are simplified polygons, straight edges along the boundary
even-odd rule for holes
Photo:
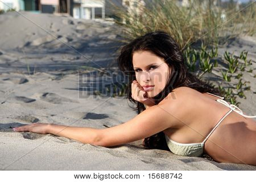
[[[138,114],[146,108],[141,102],[135,101],[131,97],[131,82],[136,80],[133,69],[133,53],[136,51],[150,51],[156,56],[163,58],[165,63],[171,68],[171,74],[165,88],[153,97],[156,105],[172,92],[172,90],[180,86],[187,86],[201,93],[209,92],[221,96],[220,90],[214,88],[208,81],[200,80],[188,72],[180,48],[170,35],[163,31],[148,32],[146,35],[139,36],[126,46],[123,46],[117,59],[119,69],[129,78],[126,88],[127,99],[137,104],[137,107],[132,108],[137,110]],[[170,151],[163,131],[145,138],[143,146],[148,149],[155,148]]]

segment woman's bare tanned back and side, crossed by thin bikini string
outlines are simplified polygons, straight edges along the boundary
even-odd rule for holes
[[[176,129],[166,129],[164,133],[171,140],[181,144],[201,143],[230,108],[217,102],[216,100],[220,98],[210,94],[202,94],[186,87],[176,90],[179,90],[176,94],[174,92],[177,101],[183,102],[183,106],[175,113],[186,114],[179,118],[182,122],[179,122]],[[185,110],[189,110],[189,113]],[[256,161],[251,160],[256,151],[255,138],[255,121],[232,111],[206,140],[204,152],[218,162],[255,165]]]

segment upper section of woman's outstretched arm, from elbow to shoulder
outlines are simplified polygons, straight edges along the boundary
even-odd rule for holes
[[[176,127],[179,122],[176,110],[177,108],[170,102],[165,106],[151,106],[122,125],[102,129],[95,145],[118,146],[150,137],[170,127]]]

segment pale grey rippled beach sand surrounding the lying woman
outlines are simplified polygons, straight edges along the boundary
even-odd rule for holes
[[[93,94],[97,87],[89,89],[92,82],[105,88],[111,77],[78,69],[86,65],[118,74],[114,61],[122,43],[112,22],[21,13],[61,42],[15,12],[0,15],[1,170],[256,169],[245,164],[217,163],[207,156],[183,157],[168,151],[144,150],[142,140],[100,147],[52,134],[14,132],[11,128],[35,122],[103,129],[137,115],[125,97],[98,96]],[[244,76],[251,82],[251,90],[245,92],[246,100],[238,98],[240,109],[248,115],[256,113],[255,43],[255,38],[243,36],[219,50],[246,49],[253,59],[253,73]],[[214,70],[208,77],[219,74]]]

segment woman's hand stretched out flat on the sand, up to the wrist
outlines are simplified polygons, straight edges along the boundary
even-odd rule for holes
[[[48,127],[49,124],[45,123],[33,123],[31,125],[25,125],[20,127],[15,127],[13,131],[30,131],[33,133],[39,133],[39,134],[48,134]]]

